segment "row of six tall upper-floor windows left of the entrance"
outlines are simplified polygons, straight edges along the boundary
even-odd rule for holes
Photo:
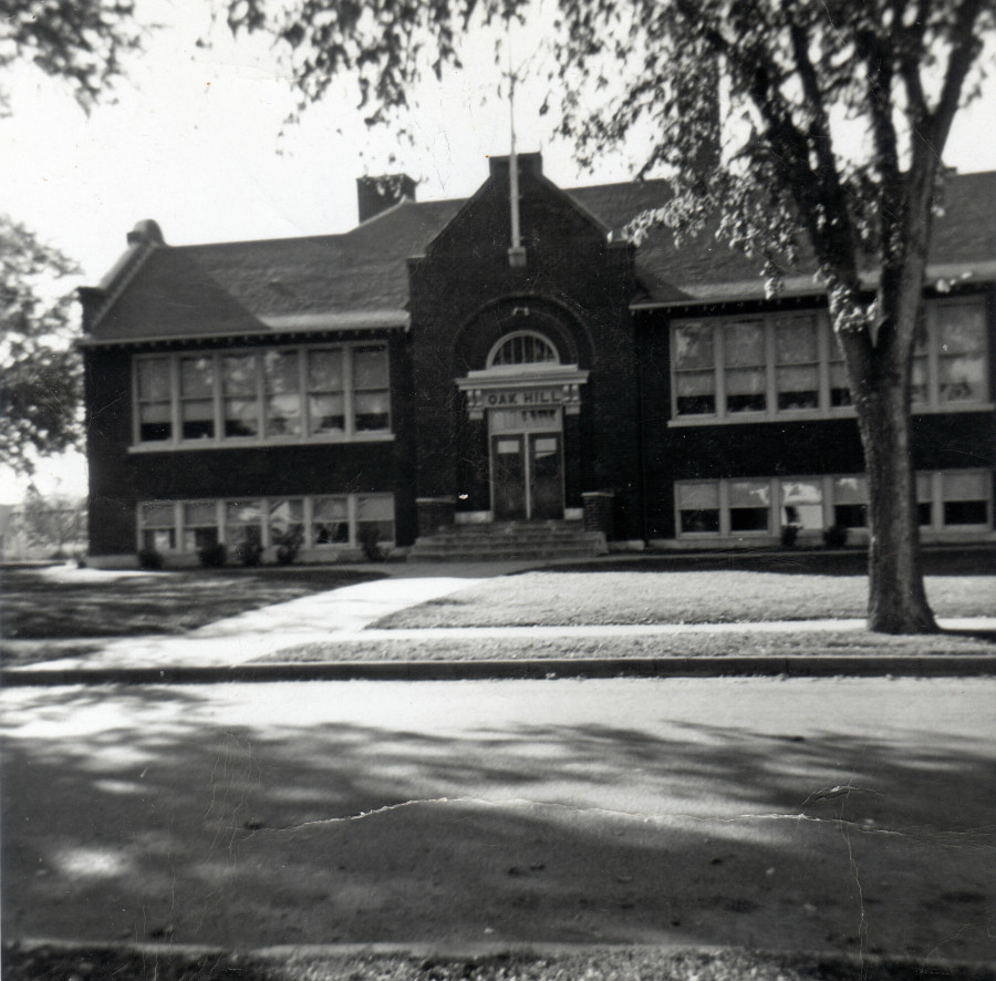
[[[298,441],[391,431],[385,344],[136,357],[135,441]]]

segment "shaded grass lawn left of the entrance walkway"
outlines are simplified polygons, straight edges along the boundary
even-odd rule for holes
[[[336,567],[110,572],[0,569],[7,641],[184,633],[270,603],[381,578]]]

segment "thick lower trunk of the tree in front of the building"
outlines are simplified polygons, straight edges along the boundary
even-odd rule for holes
[[[906,388],[885,384],[858,401],[869,496],[868,628],[880,633],[937,630],[920,568]]]

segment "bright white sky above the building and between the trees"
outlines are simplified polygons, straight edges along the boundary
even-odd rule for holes
[[[145,51],[129,60],[115,102],[89,116],[68,90],[30,69],[9,80],[12,113],[0,120],[3,207],[82,268],[64,282],[95,285],[125,247],[135,223],[154,218],[170,245],[279,238],[345,230],[356,223],[355,180],[404,172],[421,200],[465,197],[486,179],[487,158],[509,149],[509,105],[499,93],[495,37],[468,42],[471,69],[426,83],[409,117],[415,143],[370,131],[355,92],[343,85],[284,126],[294,105],[268,39],[232,40],[211,29],[203,0],[138,0]],[[540,19],[549,18],[547,0]],[[197,41],[209,35],[210,47]],[[598,173],[581,171],[571,147],[551,136],[547,94],[530,81],[542,29],[512,35],[525,81],[516,96],[520,151],[542,151],[544,173],[558,185],[625,180],[624,153]],[[507,90],[506,90],[507,91]],[[556,100],[554,100],[556,101]],[[947,162],[964,172],[996,169],[996,83],[959,115]],[[282,135],[281,135],[282,131]],[[12,193],[11,193],[12,192]],[[43,492],[85,493],[79,455],[48,461],[37,476]],[[0,502],[20,498],[24,482],[0,472]]]

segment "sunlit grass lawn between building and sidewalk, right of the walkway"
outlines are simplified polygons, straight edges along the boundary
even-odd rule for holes
[[[924,555],[938,617],[996,615],[996,551]],[[375,627],[736,623],[863,617],[862,553],[606,559],[488,580]]]

